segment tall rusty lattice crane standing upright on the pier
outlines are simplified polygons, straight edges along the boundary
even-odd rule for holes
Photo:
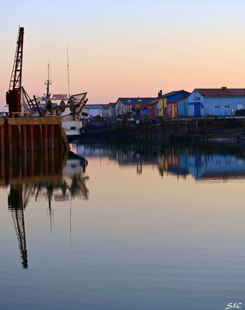
[[[6,93],[6,102],[8,104],[10,117],[12,116],[12,112],[14,113],[21,112],[20,95],[21,95],[23,37],[24,37],[24,28],[19,27],[15,61],[10,80],[9,91],[7,91]],[[15,116],[18,117],[20,116],[20,114],[15,114]]]

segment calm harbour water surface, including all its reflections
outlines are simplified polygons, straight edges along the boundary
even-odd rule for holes
[[[243,148],[71,149],[2,160],[1,309],[245,308]]]

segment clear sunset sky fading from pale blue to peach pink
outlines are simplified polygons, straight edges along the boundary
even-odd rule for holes
[[[46,93],[49,63],[51,94],[87,92],[87,104],[109,104],[159,90],[244,88],[244,12],[244,0],[1,0],[0,111],[19,26],[31,98]]]

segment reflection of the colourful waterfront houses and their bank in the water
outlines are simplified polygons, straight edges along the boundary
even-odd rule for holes
[[[245,177],[244,148],[222,145],[152,145],[152,144],[78,144],[77,154],[89,157],[107,157],[119,166],[136,165],[159,168],[161,176],[171,173],[177,178],[187,175],[199,181],[243,179]],[[144,168],[143,168],[144,169]]]

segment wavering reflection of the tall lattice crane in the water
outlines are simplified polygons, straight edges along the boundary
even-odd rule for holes
[[[24,208],[22,202],[22,187],[10,186],[10,193],[8,195],[8,207],[14,221],[16,235],[19,242],[21,264],[24,269],[28,268],[27,264],[27,250],[25,242],[25,225],[24,225]]]

